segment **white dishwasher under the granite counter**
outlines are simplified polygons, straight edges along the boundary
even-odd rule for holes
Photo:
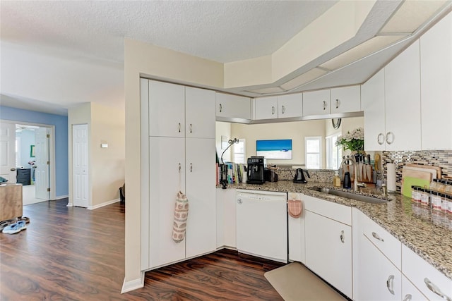
[[[287,193],[237,190],[237,250],[287,263]]]

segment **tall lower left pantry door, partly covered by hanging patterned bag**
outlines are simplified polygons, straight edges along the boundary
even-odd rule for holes
[[[172,240],[174,203],[185,191],[185,139],[149,138],[149,267],[185,258],[185,242]],[[180,168],[180,169],[179,169]]]

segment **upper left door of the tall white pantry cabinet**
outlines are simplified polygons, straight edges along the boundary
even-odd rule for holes
[[[149,135],[185,136],[185,87],[149,81]]]

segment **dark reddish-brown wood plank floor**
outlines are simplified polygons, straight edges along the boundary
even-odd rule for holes
[[[0,233],[0,300],[282,300],[263,277],[281,264],[230,250],[149,271],[121,295],[124,205],[66,204],[25,206],[28,229]]]

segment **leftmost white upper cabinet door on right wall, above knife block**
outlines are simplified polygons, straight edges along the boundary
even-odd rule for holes
[[[362,109],[364,111],[364,149],[385,150],[385,97],[384,68],[362,85]]]

